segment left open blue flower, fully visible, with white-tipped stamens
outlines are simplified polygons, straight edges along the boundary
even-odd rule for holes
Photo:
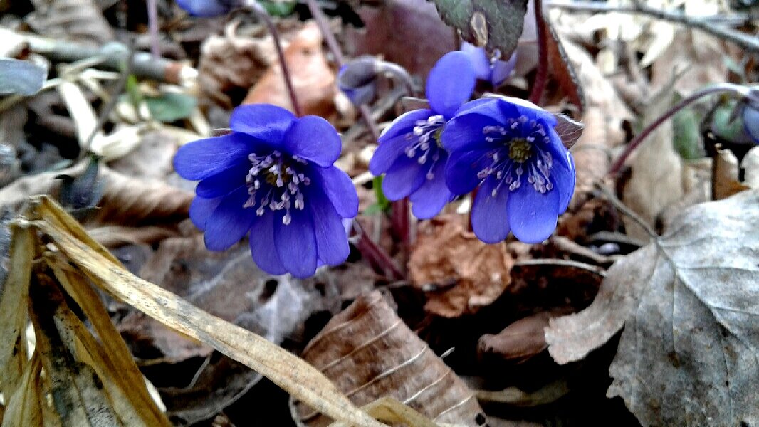
[[[190,218],[209,250],[226,250],[250,231],[253,260],[273,275],[313,275],[348,257],[343,218],[358,212],[345,172],[332,164],[340,137],[328,121],[295,118],[274,105],[242,105],[232,133],[182,146],[174,168],[200,181]]]

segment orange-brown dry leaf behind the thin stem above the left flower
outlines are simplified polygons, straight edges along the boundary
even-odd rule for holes
[[[329,68],[322,50],[322,33],[313,21],[295,34],[285,49],[292,85],[304,115],[329,117],[335,112],[335,72]],[[292,111],[282,68],[274,62],[250,89],[244,104],[273,104]]]

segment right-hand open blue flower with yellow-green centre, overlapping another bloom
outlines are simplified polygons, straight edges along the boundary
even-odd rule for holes
[[[553,233],[575,190],[575,162],[553,127],[556,118],[521,99],[468,102],[442,131],[450,152],[446,182],[455,194],[480,186],[471,210],[486,243],[539,243]]]

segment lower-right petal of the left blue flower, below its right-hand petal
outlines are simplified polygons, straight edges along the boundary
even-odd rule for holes
[[[319,259],[328,265],[342,264],[351,252],[342,218],[325,196],[313,191],[309,196],[306,206],[310,207],[313,217]]]

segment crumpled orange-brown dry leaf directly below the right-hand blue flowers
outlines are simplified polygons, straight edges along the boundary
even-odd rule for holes
[[[492,303],[511,283],[514,259],[505,243],[483,243],[465,229],[461,216],[447,215],[422,225],[411,251],[411,281],[427,294],[424,309],[444,317],[476,312]]]

